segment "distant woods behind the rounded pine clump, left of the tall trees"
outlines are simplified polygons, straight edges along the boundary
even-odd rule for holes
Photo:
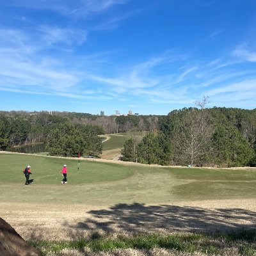
[[[52,129],[64,122],[102,127],[102,133],[156,131],[158,116],[99,116],[88,113],[0,111],[0,149],[44,143]]]

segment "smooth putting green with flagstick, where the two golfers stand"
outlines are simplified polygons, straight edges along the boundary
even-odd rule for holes
[[[78,170],[77,159],[63,159],[57,157],[31,156],[24,154],[0,154],[1,182],[21,182],[20,177],[27,165],[31,166],[29,179],[34,179],[36,184],[56,184],[61,180],[61,168],[67,164],[67,177],[72,184],[109,182],[126,179],[132,171],[126,166],[117,164],[97,163],[81,159]]]

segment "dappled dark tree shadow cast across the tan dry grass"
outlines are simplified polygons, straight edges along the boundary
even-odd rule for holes
[[[204,209],[175,205],[116,204],[109,209],[88,212],[73,226],[76,230],[103,232],[204,234],[239,232],[256,228],[256,212],[244,209]]]

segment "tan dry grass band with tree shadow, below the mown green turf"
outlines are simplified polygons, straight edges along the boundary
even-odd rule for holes
[[[99,234],[216,232],[256,228],[255,200],[179,202],[171,205],[0,203],[0,216],[24,239],[70,240]]]

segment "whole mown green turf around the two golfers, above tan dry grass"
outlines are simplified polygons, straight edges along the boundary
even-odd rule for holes
[[[31,166],[32,184],[22,173]],[[61,185],[67,164],[68,184]],[[255,198],[255,170],[172,168],[0,154],[0,202],[113,205]]]

